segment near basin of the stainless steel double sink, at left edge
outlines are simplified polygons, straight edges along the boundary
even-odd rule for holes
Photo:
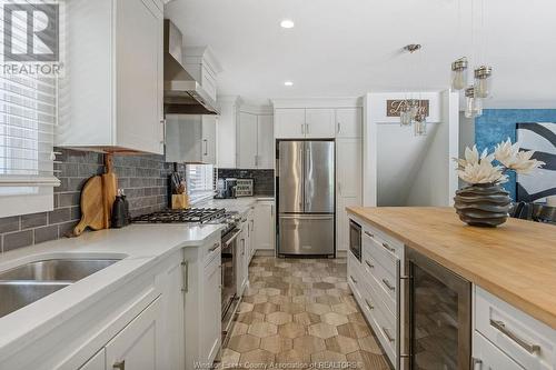
[[[69,284],[69,282],[0,281],[0,318]]]

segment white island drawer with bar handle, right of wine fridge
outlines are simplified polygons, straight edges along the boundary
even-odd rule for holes
[[[554,331],[479,287],[475,329],[525,369],[555,369]]]

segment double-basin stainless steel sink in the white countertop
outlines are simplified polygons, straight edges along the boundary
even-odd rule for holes
[[[0,318],[120,259],[46,259],[0,272]]]

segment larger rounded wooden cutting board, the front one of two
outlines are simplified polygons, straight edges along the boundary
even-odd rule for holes
[[[81,191],[81,221],[73,229],[73,236],[79,237],[87,227],[92,230],[105,229],[102,177],[100,176],[93,176],[87,180]]]

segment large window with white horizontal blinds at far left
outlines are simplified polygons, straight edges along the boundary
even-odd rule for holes
[[[12,51],[24,50],[26,18],[14,13],[11,29]],[[1,61],[3,42],[0,34]],[[37,74],[0,74],[0,217],[53,208],[53,187],[59,184],[52,151],[57,82]]]

